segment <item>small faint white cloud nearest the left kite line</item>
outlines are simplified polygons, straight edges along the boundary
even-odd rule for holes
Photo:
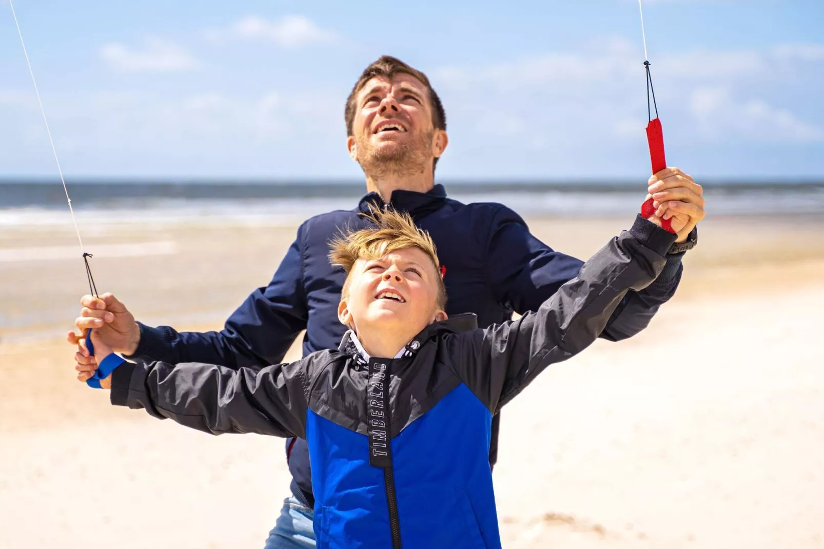
[[[199,61],[179,45],[157,38],[148,38],[145,48],[140,50],[123,44],[106,44],[101,47],[100,56],[110,68],[124,72],[184,71],[200,66]]]

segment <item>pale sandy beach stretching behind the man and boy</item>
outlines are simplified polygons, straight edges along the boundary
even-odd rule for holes
[[[529,223],[588,257],[630,221]],[[82,227],[97,288],[180,330],[219,329],[295,228]],[[597,341],[505,408],[503,546],[824,547],[822,235],[811,219],[709,218],[648,330]],[[0,547],[263,547],[288,495],[283,442],[183,429],[78,383],[62,335],[87,283],[71,246],[64,228],[0,232]]]

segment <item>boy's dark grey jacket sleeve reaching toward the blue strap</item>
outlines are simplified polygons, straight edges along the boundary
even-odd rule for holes
[[[305,436],[312,355],[292,364],[233,370],[213,364],[124,363],[111,403],[210,434]]]

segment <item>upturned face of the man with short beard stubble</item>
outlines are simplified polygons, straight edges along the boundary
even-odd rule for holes
[[[410,74],[369,80],[355,97],[352,129],[349,155],[367,173],[431,167],[447,146],[447,133],[433,127],[427,88]]]

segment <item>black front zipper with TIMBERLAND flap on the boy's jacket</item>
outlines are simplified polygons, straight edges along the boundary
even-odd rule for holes
[[[389,366],[391,360],[369,359],[369,376],[366,384],[366,407],[369,417],[369,464],[382,467],[386,485],[386,506],[389,508],[389,525],[393,549],[401,549],[400,518],[395,493],[395,476],[392,473],[392,448],[389,408]]]

